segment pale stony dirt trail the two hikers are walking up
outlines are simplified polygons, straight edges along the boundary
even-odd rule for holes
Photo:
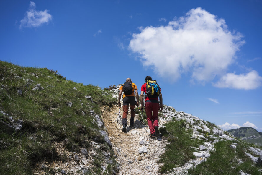
[[[121,101],[122,102],[122,101]],[[119,175],[127,174],[161,174],[158,172],[160,163],[160,155],[164,153],[165,146],[168,144],[161,137],[151,139],[147,125],[140,123],[138,114],[135,114],[135,124],[129,127],[130,124],[130,108],[127,116],[127,132],[122,132],[122,125],[116,121],[119,116],[119,107],[117,105],[112,108],[102,109],[102,119],[107,127],[109,138],[112,142],[112,148],[117,155],[116,160],[120,164]],[[120,115],[123,111],[120,109]],[[159,127],[161,127],[161,122]],[[144,152],[138,151],[144,147]],[[146,148],[146,149],[145,149]]]

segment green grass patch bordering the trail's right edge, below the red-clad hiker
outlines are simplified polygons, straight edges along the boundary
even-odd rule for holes
[[[161,173],[166,173],[173,168],[179,167],[190,159],[194,159],[192,147],[198,147],[203,144],[202,140],[191,139],[192,130],[185,130],[184,120],[172,121],[165,124],[166,127],[160,128],[160,132],[170,142],[166,145],[166,151],[161,155],[159,163],[163,163],[160,167]]]

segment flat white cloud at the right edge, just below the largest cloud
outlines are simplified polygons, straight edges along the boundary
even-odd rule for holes
[[[255,70],[247,74],[236,75],[235,73],[227,73],[221,79],[213,84],[219,88],[234,88],[234,89],[256,89],[262,85],[262,77]]]

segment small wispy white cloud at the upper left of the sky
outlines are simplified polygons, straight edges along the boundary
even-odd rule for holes
[[[31,1],[28,11],[26,12],[24,18],[20,21],[20,29],[22,27],[38,27],[52,20],[52,15],[48,13],[48,10],[37,11],[35,10],[35,7],[35,3]]]

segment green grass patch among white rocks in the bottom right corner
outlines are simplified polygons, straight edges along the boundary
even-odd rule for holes
[[[217,142],[214,145],[215,151],[211,152],[211,156],[207,158],[207,161],[197,165],[196,168],[190,169],[189,174],[238,175],[240,170],[253,175],[261,174],[258,170],[262,166],[253,166],[253,161],[245,155],[246,145],[238,143],[237,149],[232,150],[229,147],[231,144],[230,141]],[[242,159],[244,163],[238,163],[237,159]]]

